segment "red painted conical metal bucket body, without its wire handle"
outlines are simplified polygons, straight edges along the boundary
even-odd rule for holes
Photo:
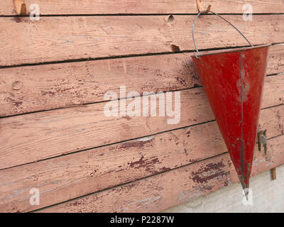
[[[249,188],[268,47],[192,56],[243,189]]]

